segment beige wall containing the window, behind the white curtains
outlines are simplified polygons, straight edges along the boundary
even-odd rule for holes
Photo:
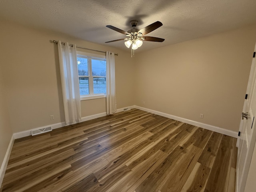
[[[54,32],[44,32],[0,21],[0,58],[13,132],[64,122],[58,48],[50,40],[61,40],[116,56],[117,107],[134,104],[134,64],[130,53]],[[104,99],[82,101],[82,116],[106,112]],[[54,120],[50,120],[50,115]]]

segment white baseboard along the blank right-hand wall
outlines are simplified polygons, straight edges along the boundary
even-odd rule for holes
[[[230,130],[227,130],[227,129],[224,129],[224,128],[204,124],[204,123],[201,123],[201,122],[185,119],[185,118],[182,118],[182,117],[170,115],[170,114],[167,114],[167,113],[151,110],[151,109],[140,107],[140,106],[134,106],[134,108],[139,109],[139,110],[143,110],[143,111],[146,111],[146,112],[150,112],[150,113],[153,113],[153,114],[157,114],[157,115],[160,115],[160,116],[163,116],[163,117],[167,117],[167,118],[170,118],[170,119],[173,119],[173,120],[177,120],[177,121],[180,121],[180,122],[184,122],[184,123],[187,123],[187,124],[190,124],[190,125],[198,126],[198,127],[204,128],[204,129],[208,129],[208,130],[211,130],[211,131],[214,131],[214,132],[217,132],[217,133],[221,133],[221,134],[224,134],[224,135],[228,135],[228,136],[231,136],[231,137],[234,137],[234,138],[238,138],[238,132],[235,132],[235,131],[230,131]]]

